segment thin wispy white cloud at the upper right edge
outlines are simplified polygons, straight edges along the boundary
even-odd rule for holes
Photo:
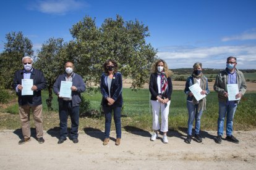
[[[256,39],[256,28],[249,31],[245,31],[242,34],[226,36],[222,38],[221,41],[252,40],[252,39]]]

